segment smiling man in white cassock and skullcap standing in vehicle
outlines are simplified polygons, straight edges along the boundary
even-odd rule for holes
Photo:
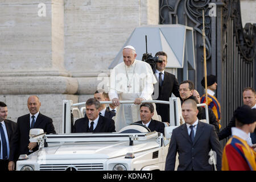
[[[141,121],[139,106],[143,100],[152,100],[154,84],[157,82],[150,64],[135,60],[137,54],[133,46],[123,48],[123,63],[116,65],[110,73],[109,98],[118,106],[115,130],[133,122]],[[132,100],[134,104],[120,104]],[[153,119],[158,120],[156,110]]]

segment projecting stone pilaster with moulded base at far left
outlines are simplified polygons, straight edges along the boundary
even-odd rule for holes
[[[64,68],[64,2],[5,1],[0,17],[0,100],[9,119],[27,114],[27,98],[35,94],[60,133],[62,101],[78,101],[78,82]]]

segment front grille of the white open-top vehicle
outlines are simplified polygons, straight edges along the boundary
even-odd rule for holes
[[[41,164],[40,171],[102,171],[104,164]]]

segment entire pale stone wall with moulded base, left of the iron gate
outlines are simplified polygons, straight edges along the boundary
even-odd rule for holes
[[[9,119],[27,114],[36,94],[61,133],[63,100],[92,97],[134,28],[158,24],[158,9],[152,0],[1,1],[0,100]]]

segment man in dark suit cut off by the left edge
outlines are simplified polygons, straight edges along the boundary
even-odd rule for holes
[[[0,171],[8,171],[10,147],[16,123],[7,119],[8,109],[4,102],[0,102]]]

